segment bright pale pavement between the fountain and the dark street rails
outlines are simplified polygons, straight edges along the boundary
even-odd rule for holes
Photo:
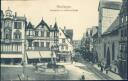
[[[60,65],[64,65],[66,69],[69,71],[69,79],[68,80],[80,80],[81,76],[85,76],[85,80],[101,80],[97,77],[93,72],[88,71],[86,69],[81,69],[81,67],[87,67],[82,63],[75,62],[73,64],[69,63],[58,63]]]

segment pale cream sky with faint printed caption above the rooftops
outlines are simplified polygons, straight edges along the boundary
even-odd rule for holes
[[[54,25],[56,21],[61,28],[73,29],[74,40],[80,40],[87,28],[98,25],[98,5],[99,0],[1,1],[3,11],[9,7],[17,15],[25,15],[34,26],[43,18],[48,25]]]

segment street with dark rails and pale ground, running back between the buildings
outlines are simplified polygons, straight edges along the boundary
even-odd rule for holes
[[[69,71],[69,80],[80,80],[83,72],[86,80],[113,80],[111,77],[93,67],[92,64],[84,60],[79,60],[79,62],[74,62],[73,64],[63,64]]]

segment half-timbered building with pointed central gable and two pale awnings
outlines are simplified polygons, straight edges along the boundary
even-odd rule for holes
[[[53,47],[58,44],[58,27],[48,26],[42,19],[40,23],[33,27],[31,23],[26,29],[26,51],[29,63],[50,62]],[[34,53],[32,53],[34,52]],[[56,55],[54,53],[54,57]]]

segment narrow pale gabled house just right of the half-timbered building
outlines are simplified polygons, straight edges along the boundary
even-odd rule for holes
[[[59,28],[59,58],[60,61],[71,61],[73,54],[72,36],[73,30]]]

